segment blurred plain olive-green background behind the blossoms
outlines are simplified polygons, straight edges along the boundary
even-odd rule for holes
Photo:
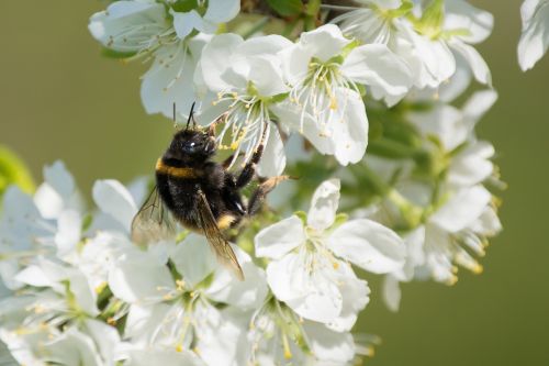
[[[383,339],[372,366],[549,365],[549,56],[520,73],[520,2],[471,2],[496,20],[480,51],[500,100],[479,134],[496,146],[509,185],[505,230],[483,275],[462,271],[451,288],[404,286],[399,313],[372,299],[359,326]],[[141,106],[146,66],[101,57],[88,34],[88,18],[103,8],[98,0],[0,1],[0,143],[37,181],[58,158],[88,192],[97,178],[127,181],[152,171],[171,135],[171,123]]]

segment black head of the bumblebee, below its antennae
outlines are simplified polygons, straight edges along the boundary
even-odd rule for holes
[[[181,162],[203,162],[215,154],[215,137],[208,131],[181,130],[173,136],[166,155]]]

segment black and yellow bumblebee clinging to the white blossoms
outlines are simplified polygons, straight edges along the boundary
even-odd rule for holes
[[[193,125],[189,127],[191,120]],[[222,164],[213,160],[217,149],[215,124],[208,130],[197,127],[191,110],[187,127],[175,134],[156,163],[156,186],[132,222],[132,240],[148,244],[172,239],[180,223],[203,234],[217,260],[243,280],[243,270],[223,231],[257,213],[267,195],[288,177],[264,180],[245,204],[240,190],[255,177],[265,136],[249,163],[234,175],[227,170],[233,156]]]

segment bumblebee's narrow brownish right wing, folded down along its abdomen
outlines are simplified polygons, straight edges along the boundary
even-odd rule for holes
[[[235,252],[233,252],[231,244],[223,237],[220,228],[217,228],[206,197],[201,190],[199,190],[198,197],[198,221],[208,239],[208,243],[210,243],[217,260],[231,269],[239,280],[244,280],[244,273],[238,264]]]

